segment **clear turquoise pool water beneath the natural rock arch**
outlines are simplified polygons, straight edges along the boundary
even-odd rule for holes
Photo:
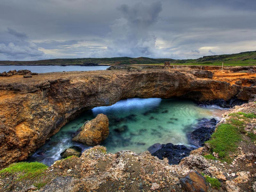
[[[60,159],[60,153],[72,146],[83,150],[88,148],[72,141],[76,131],[85,121],[98,114],[109,118],[109,136],[102,143],[107,152],[119,150],[142,152],[155,143],[173,143],[189,146],[186,133],[193,130],[193,124],[200,118],[220,120],[223,110],[201,108],[193,101],[176,99],[139,99],[120,100],[107,107],[96,107],[86,111],[75,120],[61,128],[60,132],[39,148],[29,161],[52,164]]]

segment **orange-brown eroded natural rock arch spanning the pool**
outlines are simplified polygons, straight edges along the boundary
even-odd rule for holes
[[[240,95],[239,99],[247,100],[256,90],[248,83],[235,84],[245,78],[240,73],[230,82],[227,78],[220,80],[216,71],[212,79],[194,74],[191,68],[179,67],[46,73],[26,79],[1,76],[0,167],[26,159],[83,110],[132,97],[182,96],[203,101],[229,100]]]

